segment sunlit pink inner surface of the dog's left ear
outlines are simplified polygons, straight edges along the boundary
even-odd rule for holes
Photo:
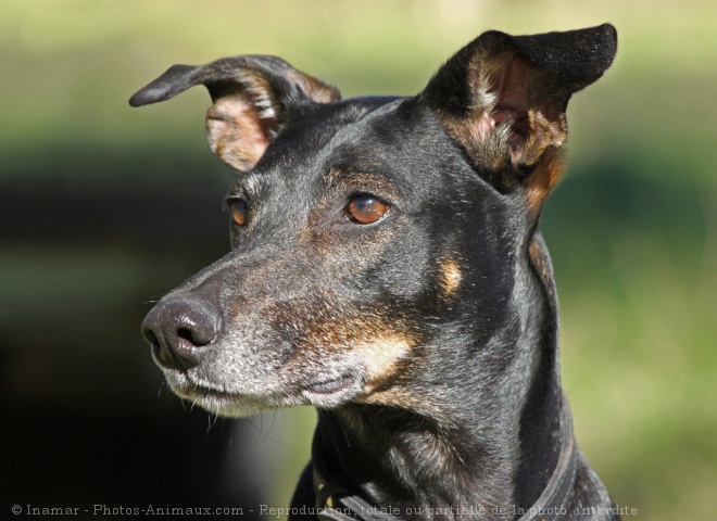
[[[269,143],[257,107],[241,96],[216,100],[206,111],[206,140],[212,152],[239,171],[249,171]]]

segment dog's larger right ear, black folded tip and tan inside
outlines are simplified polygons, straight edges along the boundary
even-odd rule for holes
[[[501,191],[525,185],[539,211],[561,175],[568,100],[616,51],[609,24],[531,36],[492,30],[451,58],[418,99],[489,181]]]

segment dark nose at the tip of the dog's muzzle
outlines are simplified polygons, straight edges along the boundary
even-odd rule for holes
[[[158,364],[179,370],[199,365],[221,329],[222,318],[213,306],[186,296],[162,298],[142,322],[142,335]]]

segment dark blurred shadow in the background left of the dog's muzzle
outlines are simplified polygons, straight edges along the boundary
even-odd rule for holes
[[[5,163],[8,500],[227,506],[254,519],[248,509],[265,503],[261,462],[232,443],[252,427],[183,407],[139,331],[150,301],[228,251],[227,180],[216,162],[180,148],[62,147]]]

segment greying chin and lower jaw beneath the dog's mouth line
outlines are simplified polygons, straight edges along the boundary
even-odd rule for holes
[[[271,394],[247,394],[217,390],[213,385],[194,383],[187,378],[175,378],[171,374],[166,374],[166,381],[177,396],[226,418],[243,418],[267,409],[301,405],[331,409],[361,395],[363,387],[361,380],[351,376],[311,382],[298,386],[294,391],[282,390],[280,393]]]

